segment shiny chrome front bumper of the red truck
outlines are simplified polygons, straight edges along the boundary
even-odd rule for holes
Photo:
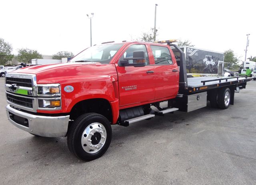
[[[20,116],[22,118],[28,119],[28,125],[29,127],[23,126],[21,124],[18,124],[14,122],[9,115],[9,112]],[[68,131],[68,121],[69,121],[69,115],[68,116],[37,116],[34,114],[29,114],[26,112],[22,112],[19,110],[16,110],[8,104],[6,106],[6,114],[8,120],[16,127],[25,130],[31,134],[35,134],[38,136],[43,137],[61,137],[66,136],[66,133]]]

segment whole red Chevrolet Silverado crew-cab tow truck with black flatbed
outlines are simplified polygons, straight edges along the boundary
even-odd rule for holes
[[[108,42],[85,49],[68,63],[8,73],[6,113],[14,126],[30,134],[67,136],[74,155],[93,160],[110,146],[112,124],[190,112],[205,107],[207,100],[225,109],[250,80],[188,78],[184,53],[170,42]]]

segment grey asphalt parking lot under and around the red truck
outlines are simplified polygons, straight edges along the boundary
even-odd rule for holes
[[[190,113],[112,126],[110,148],[84,162],[66,138],[42,138],[7,120],[0,78],[0,184],[256,184],[256,81],[226,110]]]

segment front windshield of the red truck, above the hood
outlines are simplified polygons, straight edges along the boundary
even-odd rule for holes
[[[70,62],[100,62],[102,64],[108,64],[122,45],[95,45],[76,55]]]

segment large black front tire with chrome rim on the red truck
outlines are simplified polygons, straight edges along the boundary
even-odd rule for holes
[[[76,157],[91,161],[101,157],[112,139],[112,128],[107,118],[96,113],[79,116],[68,131],[68,148]]]

